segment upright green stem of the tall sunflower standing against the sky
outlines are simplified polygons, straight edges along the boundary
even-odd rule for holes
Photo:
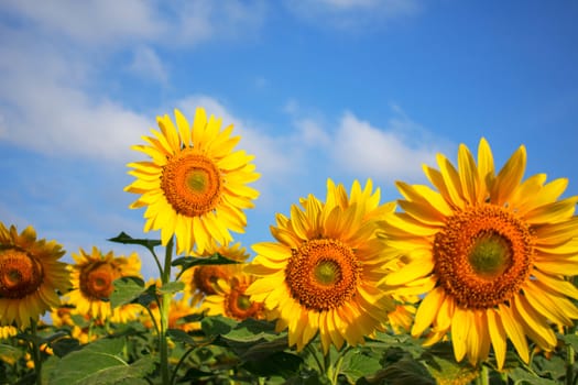
[[[173,238],[168,241],[165,251],[164,266],[162,270],[161,280],[165,285],[171,280],[171,261],[173,258]],[[163,385],[171,384],[171,374],[168,371],[168,341],[166,330],[168,329],[168,309],[171,307],[171,293],[163,293],[161,299],[161,330],[159,332],[159,350],[161,352],[161,378]]]

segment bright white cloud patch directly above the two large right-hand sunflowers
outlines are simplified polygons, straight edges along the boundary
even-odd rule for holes
[[[395,119],[391,121],[400,124]],[[405,124],[407,128],[410,123]],[[383,130],[346,112],[336,133],[332,156],[337,164],[351,173],[390,179],[419,178],[423,176],[422,165],[432,164],[439,148],[433,143],[407,138],[400,125]]]

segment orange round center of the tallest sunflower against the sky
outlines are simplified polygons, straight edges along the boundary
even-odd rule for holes
[[[211,160],[188,148],[164,166],[161,189],[176,212],[199,217],[219,204],[222,179]]]

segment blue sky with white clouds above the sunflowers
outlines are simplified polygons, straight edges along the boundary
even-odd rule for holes
[[[250,249],[326,179],[368,177],[383,201],[422,164],[490,142],[499,166],[578,193],[578,2],[458,0],[0,2],[0,220],[119,254],[142,233],[130,150],[157,114],[233,123],[262,174]]]

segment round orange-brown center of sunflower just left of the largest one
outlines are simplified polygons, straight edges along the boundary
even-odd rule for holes
[[[360,271],[351,248],[338,240],[312,240],[292,250],[285,282],[301,305],[324,311],[356,295]]]

